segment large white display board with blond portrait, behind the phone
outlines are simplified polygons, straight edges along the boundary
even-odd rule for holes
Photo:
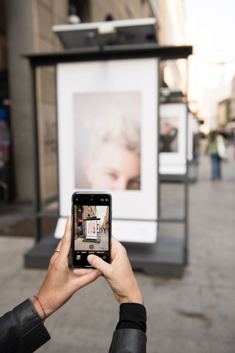
[[[62,217],[75,191],[93,190],[111,193],[113,219],[156,221],[157,77],[157,59],[57,65]],[[156,241],[147,232],[141,242],[148,237]]]

